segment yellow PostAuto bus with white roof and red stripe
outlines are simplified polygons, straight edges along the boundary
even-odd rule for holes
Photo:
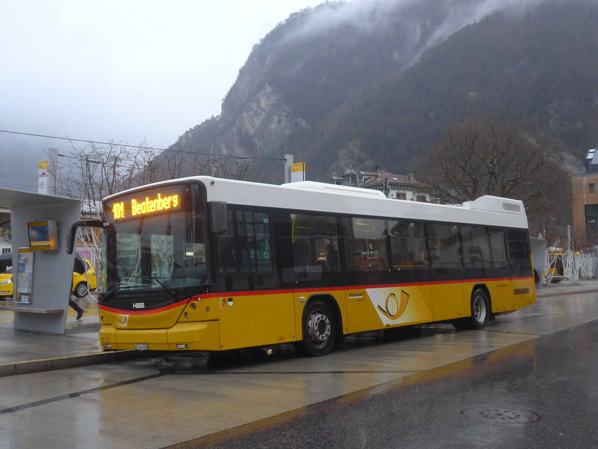
[[[103,200],[105,350],[223,351],[444,321],[481,329],[535,302],[520,201],[462,205],[303,181],[189,177]]]

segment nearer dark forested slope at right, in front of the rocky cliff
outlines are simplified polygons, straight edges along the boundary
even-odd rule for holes
[[[598,140],[596,19],[598,5],[557,2],[523,20],[493,14],[289,138],[289,152],[310,142],[306,160],[318,166],[322,154],[359,141],[378,165],[413,170],[451,124],[499,113],[581,159]]]

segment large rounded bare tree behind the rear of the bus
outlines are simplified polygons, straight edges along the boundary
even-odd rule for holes
[[[532,219],[566,204],[570,190],[556,151],[496,115],[451,126],[424,161],[418,178],[437,198],[456,203],[481,195],[520,199]]]

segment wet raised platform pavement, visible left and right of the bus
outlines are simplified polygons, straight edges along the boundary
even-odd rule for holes
[[[539,300],[572,292],[598,292],[598,279],[536,286]],[[0,377],[151,356],[148,351],[102,351],[97,339],[100,324],[96,302],[90,298],[76,301],[84,310],[83,317],[77,320],[77,313],[69,307],[64,335],[14,329],[13,312],[3,310],[13,301],[0,301]]]

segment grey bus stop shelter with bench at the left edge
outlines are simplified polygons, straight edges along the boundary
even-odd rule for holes
[[[19,248],[29,248],[28,223],[55,220],[57,248],[33,251],[29,304],[14,304],[14,328],[63,334],[71,295],[74,254],[66,253],[66,235],[80,219],[81,201],[20,190],[0,189],[0,210],[10,211],[13,298],[17,289]]]

